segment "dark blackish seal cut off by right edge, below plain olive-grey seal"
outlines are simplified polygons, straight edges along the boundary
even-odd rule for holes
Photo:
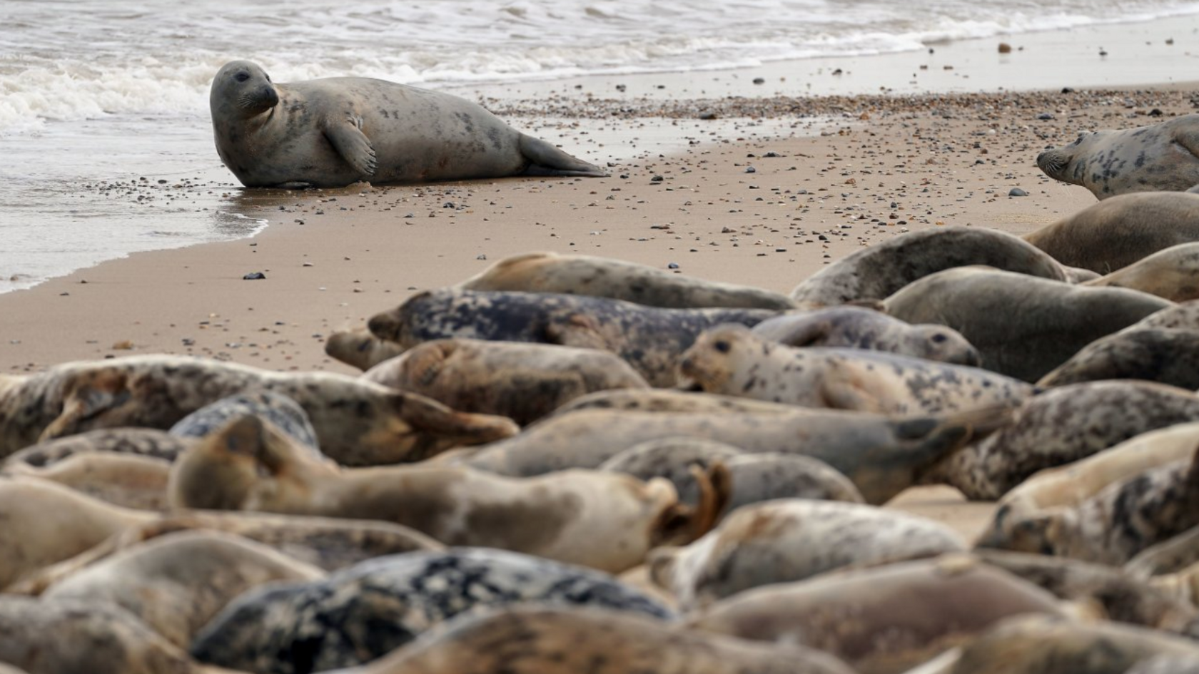
[[[1140,379],[1181,389],[1199,389],[1199,332],[1121,330],[1091,342],[1038,386],[1064,386],[1101,379]]]

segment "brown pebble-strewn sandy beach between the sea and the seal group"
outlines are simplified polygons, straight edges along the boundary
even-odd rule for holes
[[[1169,52],[1182,66],[1195,62],[1181,40],[1195,23],[1179,26],[1185,32]],[[1024,234],[1095,203],[1084,188],[1043,176],[1034,164],[1041,149],[1199,103],[1195,88],[1151,67],[1175,35],[1147,30],[1091,36],[1121,38],[1103,44],[1119,61],[1108,71],[1139,62],[1131,80],[1097,80],[1108,72],[1097,55],[1090,64],[1064,58],[1066,70],[1049,77],[1037,66],[1054,54],[1044,47],[1049,34],[1013,40],[1031,47],[1002,61],[999,40],[986,40],[843,66],[464,89],[522,130],[607,164],[611,176],[230,189],[228,207],[267,219],[264,231],[137,253],[0,295],[0,372],[171,353],[349,373],[324,354],[331,331],[529,251],[675,263],[680,273],[787,293],[823,265],[903,231],[966,224]],[[1095,47],[1077,35],[1068,43],[1079,54]],[[852,73],[854,85],[832,76],[835,67]],[[182,189],[149,177],[127,198]],[[1028,195],[1010,197],[1013,188]],[[252,272],[266,278],[242,278]],[[952,489],[899,499],[974,532],[989,508],[959,500]]]

